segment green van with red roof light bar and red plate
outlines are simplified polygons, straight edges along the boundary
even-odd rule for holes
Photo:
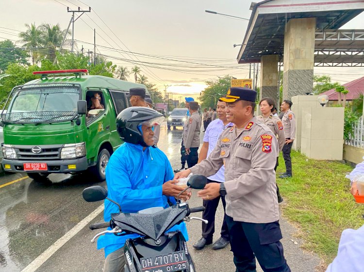
[[[41,78],[15,87],[1,114],[4,170],[26,172],[36,181],[50,173],[90,170],[105,180],[110,155],[122,143],[116,116],[129,106],[130,88],[147,88],[85,76],[85,69],[34,73]]]

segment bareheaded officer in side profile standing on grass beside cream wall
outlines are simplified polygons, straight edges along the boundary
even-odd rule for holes
[[[281,105],[281,111],[284,112],[282,123],[286,139],[282,149],[286,172],[280,176],[281,179],[292,177],[291,149],[296,136],[296,119],[295,114],[291,110],[292,105],[291,100],[283,100]]]

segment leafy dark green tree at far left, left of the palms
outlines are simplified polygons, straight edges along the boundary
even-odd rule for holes
[[[16,47],[12,41],[5,40],[0,42],[0,73],[4,73],[10,63],[29,64],[27,58],[29,54]]]

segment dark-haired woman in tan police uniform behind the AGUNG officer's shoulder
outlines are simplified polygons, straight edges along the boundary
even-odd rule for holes
[[[276,108],[274,105],[274,101],[269,97],[265,97],[259,102],[259,106],[262,115],[259,115],[257,117],[257,120],[267,125],[270,128],[270,130],[278,137],[278,144],[281,151],[285,142],[285,137],[281,119],[279,119],[278,116],[275,116],[273,114],[273,110]],[[279,153],[277,154],[277,163],[276,166],[274,167],[274,171],[276,171],[278,167],[278,157]],[[278,197],[278,203],[281,203],[283,201],[283,198],[281,197],[278,185],[277,185],[277,197]]]

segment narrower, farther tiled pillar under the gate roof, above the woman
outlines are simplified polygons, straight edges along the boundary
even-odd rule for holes
[[[260,70],[260,95],[259,100],[270,97],[278,101],[278,55],[263,55]],[[279,104],[276,105],[279,109]]]

